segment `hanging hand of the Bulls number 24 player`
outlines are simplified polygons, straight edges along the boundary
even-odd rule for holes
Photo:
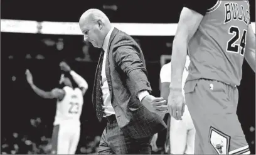
[[[170,89],[168,96],[168,111],[176,120],[182,120],[185,108],[185,100],[181,90]]]

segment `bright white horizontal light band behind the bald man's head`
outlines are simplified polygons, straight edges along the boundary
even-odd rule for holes
[[[142,24],[114,22],[112,24],[131,36],[174,36],[178,26],[177,23]],[[252,27],[255,33],[255,22],[252,22]],[[1,19],[1,32],[82,35],[78,22],[37,22],[11,19]]]

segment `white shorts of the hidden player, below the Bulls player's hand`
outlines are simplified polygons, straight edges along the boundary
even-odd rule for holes
[[[196,129],[185,106],[182,120],[171,117],[170,125],[171,154],[194,154]]]

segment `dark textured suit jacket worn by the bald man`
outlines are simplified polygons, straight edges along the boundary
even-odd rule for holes
[[[110,36],[105,72],[115,117],[124,134],[139,139],[166,128],[163,119],[148,111],[137,98],[139,91],[151,91],[141,48],[131,36],[116,28]],[[93,104],[95,84],[96,79]]]

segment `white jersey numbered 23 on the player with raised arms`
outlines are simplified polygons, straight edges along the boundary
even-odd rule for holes
[[[63,121],[72,121],[80,124],[80,116],[83,108],[83,93],[79,88],[63,88],[65,96],[61,101],[57,101],[54,125]]]

